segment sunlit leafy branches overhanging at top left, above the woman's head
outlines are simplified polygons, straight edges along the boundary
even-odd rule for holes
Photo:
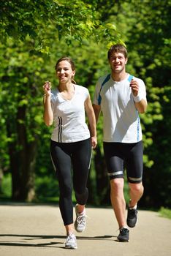
[[[94,4],[80,0],[1,1],[2,42],[9,37],[25,41],[29,36],[34,40],[35,50],[49,53],[54,37],[57,43],[64,39],[68,45],[88,37],[94,37],[96,42],[121,40],[114,24],[105,26],[100,20]]]

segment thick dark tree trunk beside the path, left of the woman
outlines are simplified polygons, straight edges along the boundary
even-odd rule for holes
[[[7,133],[12,137],[14,125],[17,138],[9,143],[10,170],[12,173],[12,200],[31,201],[35,197],[34,169],[37,152],[37,137],[28,142],[26,132],[26,106],[18,107],[16,124],[7,124]]]

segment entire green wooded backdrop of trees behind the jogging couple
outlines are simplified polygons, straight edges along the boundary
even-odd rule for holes
[[[141,202],[170,207],[170,6],[167,0],[1,1],[1,170],[14,173],[17,167],[21,178],[28,175],[26,167],[33,166],[37,198],[42,200],[46,192],[48,197],[58,197],[49,155],[53,127],[45,127],[42,120],[42,85],[50,80],[56,87],[56,61],[71,56],[75,80],[88,88],[93,99],[96,80],[110,72],[107,48],[113,42],[124,42],[129,50],[127,71],[145,81],[148,97],[148,111],[140,115],[145,165]],[[105,178],[99,179],[105,173],[102,116],[97,133],[98,150],[88,188],[91,202],[100,204],[108,202],[108,181],[99,184]],[[35,152],[34,159],[30,159],[31,152]],[[97,156],[100,165],[95,165]],[[18,178],[18,173],[14,176]],[[9,184],[5,175],[6,180]],[[11,194],[11,187],[9,192],[4,189],[3,185],[5,195]]]

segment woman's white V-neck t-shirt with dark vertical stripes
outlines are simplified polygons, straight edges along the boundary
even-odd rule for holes
[[[58,89],[51,93],[54,129],[51,139],[60,143],[71,143],[90,138],[86,124],[84,103],[89,92],[83,86],[75,85],[72,99],[64,99]]]

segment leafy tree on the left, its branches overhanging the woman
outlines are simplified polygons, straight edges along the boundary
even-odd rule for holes
[[[1,138],[4,136],[4,148],[9,152],[12,199],[31,201],[42,124],[39,77],[45,81],[47,73],[54,72],[46,64],[48,54],[61,38],[69,45],[90,36],[98,41],[107,35],[106,42],[118,37],[113,34],[115,27],[104,26],[88,2],[18,0],[1,1],[0,7],[1,91],[5,96],[0,97],[4,116]]]

